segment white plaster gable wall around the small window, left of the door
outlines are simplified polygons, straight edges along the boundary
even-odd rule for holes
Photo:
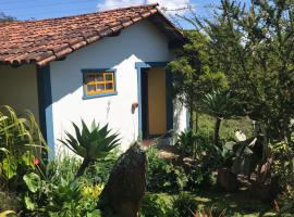
[[[122,138],[125,150],[138,137],[138,110],[131,112],[137,102],[136,62],[170,61],[173,53],[168,40],[152,24],[139,22],[122,30],[118,37],[105,38],[70,54],[65,61],[51,64],[52,113],[56,150],[57,139],[64,130],[72,131],[71,122],[81,118],[90,124],[95,118],[101,125],[109,123]],[[83,68],[115,68],[118,95],[83,100]]]

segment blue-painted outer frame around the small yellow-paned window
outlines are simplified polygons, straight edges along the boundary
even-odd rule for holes
[[[82,69],[83,73],[83,100],[89,100],[95,98],[103,98],[103,97],[110,97],[110,95],[117,95],[118,89],[117,89],[117,68],[84,68]],[[85,85],[85,78],[87,73],[113,73],[113,79],[114,79],[114,91],[113,92],[107,92],[107,93],[97,93],[97,94],[87,94],[86,92],[86,85]]]

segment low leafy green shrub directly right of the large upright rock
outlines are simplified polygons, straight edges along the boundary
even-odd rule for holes
[[[150,148],[148,155],[147,189],[150,191],[179,191],[186,186],[187,178],[181,166],[171,161],[159,158],[157,149]]]

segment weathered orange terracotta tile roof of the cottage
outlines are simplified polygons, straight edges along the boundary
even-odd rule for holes
[[[35,62],[46,65],[102,37],[151,15],[169,21],[157,4],[48,18],[0,24],[0,63],[20,65]],[[176,34],[181,33],[171,24]]]

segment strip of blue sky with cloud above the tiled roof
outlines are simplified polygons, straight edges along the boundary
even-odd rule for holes
[[[182,8],[191,3],[198,14],[206,15],[205,7],[218,4],[220,0],[0,0],[0,12],[19,20],[39,20],[154,2],[159,2],[168,9]]]

